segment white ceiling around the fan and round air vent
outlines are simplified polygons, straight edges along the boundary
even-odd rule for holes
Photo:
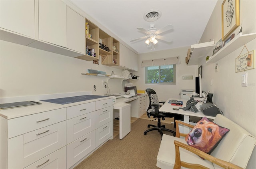
[[[217,0],[69,0],[90,17],[108,28],[126,44],[140,53],[190,46],[200,40]],[[160,10],[155,22],[144,20],[149,10]],[[158,40],[155,50],[144,43],[145,36],[138,27],[149,28],[154,23],[158,30],[168,24],[173,30],[162,33],[170,43]]]

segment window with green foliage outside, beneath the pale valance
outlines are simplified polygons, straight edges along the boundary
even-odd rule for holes
[[[146,67],[146,84],[175,84],[176,65]]]

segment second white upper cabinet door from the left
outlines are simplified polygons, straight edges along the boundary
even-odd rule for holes
[[[39,40],[67,47],[66,4],[60,0],[39,0]]]

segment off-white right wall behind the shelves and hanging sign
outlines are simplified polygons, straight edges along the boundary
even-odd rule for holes
[[[220,40],[222,2],[217,2],[202,35],[202,40],[214,39],[215,43]],[[256,32],[255,9],[255,0],[240,0],[240,24],[242,25],[243,34]],[[246,47],[249,51],[256,50],[256,39],[246,44]],[[202,60],[202,84],[204,90],[210,90],[210,93],[214,93],[213,101],[226,117],[256,136],[256,69],[246,71],[248,72],[248,87],[241,86],[241,76],[244,72],[235,73],[235,58],[239,56],[242,48],[243,46],[216,62],[218,63],[219,72],[215,72],[216,63],[208,65],[205,64],[205,60]],[[246,49],[243,50],[241,55],[246,52]],[[212,86],[211,79],[213,81]],[[256,148],[254,148],[248,163],[248,169],[255,169],[255,159]]]

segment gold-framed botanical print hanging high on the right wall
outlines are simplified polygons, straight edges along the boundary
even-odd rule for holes
[[[222,41],[240,25],[239,0],[224,0],[221,6]]]

